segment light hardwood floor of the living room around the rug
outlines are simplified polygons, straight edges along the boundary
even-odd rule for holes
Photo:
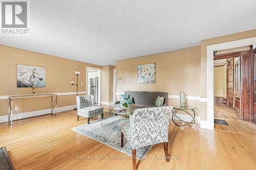
[[[77,122],[76,111],[67,111],[57,117],[17,120],[12,129],[8,123],[0,124],[0,147],[7,147],[16,169],[132,169],[131,159],[116,159],[126,156],[124,153],[71,130],[86,123],[87,119]],[[199,124],[181,130],[170,121],[168,143],[170,155],[178,159],[158,159],[158,155],[164,156],[159,143],[147,154],[155,158],[137,161],[137,168],[256,169],[255,134],[205,130]]]

